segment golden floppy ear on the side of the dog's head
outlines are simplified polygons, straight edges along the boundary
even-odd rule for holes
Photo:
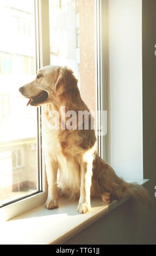
[[[55,92],[57,96],[64,94],[68,90],[77,86],[77,79],[73,75],[71,69],[61,68],[57,69],[58,78],[55,83]]]

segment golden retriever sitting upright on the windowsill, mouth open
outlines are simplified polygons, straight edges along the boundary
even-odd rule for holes
[[[82,124],[78,120],[78,112],[89,112],[89,109],[80,96],[77,82],[72,70],[49,65],[37,72],[34,81],[19,89],[24,97],[29,98],[27,105],[43,105],[43,144],[48,181],[46,208],[58,208],[59,195],[79,198],[77,210],[81,214],[90,210],[91,197],[101,197],[109,204],[112,199],[132,195],[149,203],[145,188],[119,178],[113,168],[98,156],[95,130],[90,125],[91,116],[89,129],[84,129],[84,117]],[[70,119],[66,115],[68,111],[74,111],[78,120],[73,129],[66,126]],[[53,125],[56,117],[59,117],[57,127]]]

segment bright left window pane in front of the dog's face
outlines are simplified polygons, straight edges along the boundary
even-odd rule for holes
[[[38,190],[36,108],[18,88],[34,79],[34,1],[0,1],[0,206]]]

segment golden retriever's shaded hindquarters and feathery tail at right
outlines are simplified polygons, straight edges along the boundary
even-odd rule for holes
[[[149,209],[152,209],[152,200],[146,188],[135,182],[128,183],[124,181],[116,175],[109,164],[105,163],[105,167],[107,168],[98,173],[98,187],[101,195],[104,191],[107,191],[113,199],[133,196],[143,204],[147,204]]]

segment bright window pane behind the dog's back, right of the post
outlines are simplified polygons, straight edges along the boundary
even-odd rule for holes
[[[96,112],[96,1],[49,0],[51,64],[68,66]]]

